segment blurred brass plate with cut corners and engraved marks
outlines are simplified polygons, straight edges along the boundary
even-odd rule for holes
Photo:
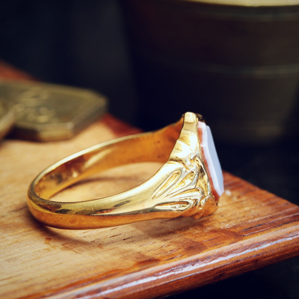
[[[14,136],[38,141],[73,137],[106,111],[106,99],[87,89],[0,81],[0,97],[16,115]]]

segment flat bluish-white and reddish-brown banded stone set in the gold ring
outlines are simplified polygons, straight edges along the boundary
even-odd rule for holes
[[[202,156],[210,179],[212,193],[217,200],[224,192],[223,175],[211,129],[202,121],[198,122],[198,135]]]

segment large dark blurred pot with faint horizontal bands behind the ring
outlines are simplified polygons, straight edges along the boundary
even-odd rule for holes
[[[192,111],[226,142],[269,143],[294,130],[299,5],[123,0],[122,7],[139,126],[155,129]]]

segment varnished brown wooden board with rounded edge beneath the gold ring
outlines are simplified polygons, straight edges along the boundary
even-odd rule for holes
[[[1,298],[154,298],[299,253],[299,207],[229,173],[218,210],[198,220],[66,231],[30,215],[26,192],[41,170],[80,149],[136,132],[106,115],[68,141],[1,142]],[[158,167],[143,163],[109,170],[55,199],[118,193]]]

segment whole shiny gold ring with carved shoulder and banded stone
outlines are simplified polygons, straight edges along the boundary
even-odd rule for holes
[[[89,201],[49,200],[94,173],[146,161],[164,164],[135,188]],[[51,165],[30,184],[28,207],[38,221],[51,227],[105,228],[179,216],[198,219],[216,210],[223,190],[210,128],[200,115],[187,112],[158,131],[104,142]]]

